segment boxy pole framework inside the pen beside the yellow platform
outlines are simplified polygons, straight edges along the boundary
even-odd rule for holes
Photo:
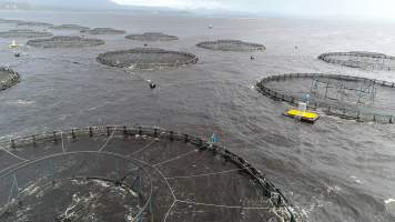
[[[359,81],[350,77],[313,77],[311,94],[316,99],[332,100],[340,103],[368,104],[376,98],[376,82]]]

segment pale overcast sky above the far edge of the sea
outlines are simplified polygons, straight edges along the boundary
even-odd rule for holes
[[[121,4],[173,9],[277,12],[301,16],[345,16],[395,19],[395,0],[112,0]]]

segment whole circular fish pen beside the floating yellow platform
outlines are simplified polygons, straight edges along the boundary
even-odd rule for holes
[[[395,83],[338,74],[291,73],[264,78],[257,90],[293,105],[310,95],[311,109],[361,122],[394,123]]]

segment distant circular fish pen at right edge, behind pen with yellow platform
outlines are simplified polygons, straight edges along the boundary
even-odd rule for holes
[[[331,52],[321,54],[318,59],[334,64],[365,70],[389,71],[395,69],[395,57],[376,52]]]

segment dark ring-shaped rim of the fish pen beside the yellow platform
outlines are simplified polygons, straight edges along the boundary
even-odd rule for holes
[[[324,74],[324,73],[287,73],[287,74],[278,74],[278,75],[271,75],[271,77],[263,78],[261,81],[256,83],[256,90],[260,93],[272,98],[273,100],[285,101],[292,105],[297,105],[300,98],[296,98],[287,93],[278,92],[277,90],[269,87],[267,83],[273,81],[276,82],[287,81],[290,79],[310,79],[313,82],[314,79],[322,79],[322,78],[342,80],[342,81],[357,81],[357,82],[365,82],[365,83],[367,82],[371,85],[395,89],[394,82],[367,79],[361,77]],[[391,124],[395,123],[395,115],[392,114],[362,112],[354,109],[330,105],[326,102],[314,101],[308,104],[308,108],[314,110],[322,109],[328,115],[336,115],[342,119],[356,120],[358,122],[378,122],[378,123],[391,123]]]

